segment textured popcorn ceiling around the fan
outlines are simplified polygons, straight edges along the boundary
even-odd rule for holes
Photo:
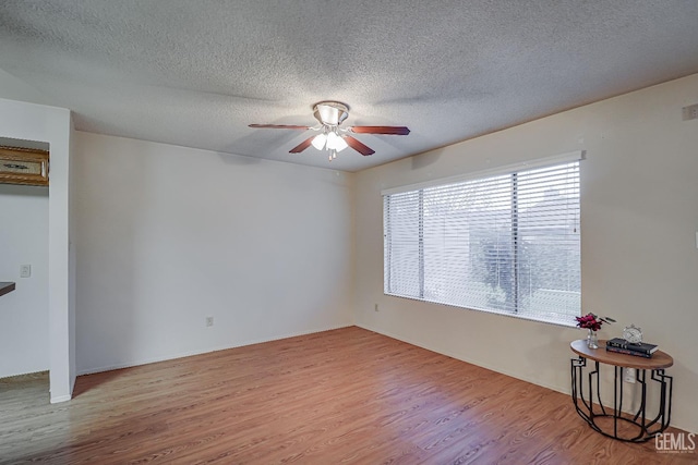
[[[81,131],[358,171],[698,73],[697,24],[695,0],[3,0],[0,71]],[[248,127],[325,99],[411,134],[329,163]]]

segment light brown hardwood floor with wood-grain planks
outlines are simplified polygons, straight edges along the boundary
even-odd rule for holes
[[[571,354],[570,354],[571,355]],[[689,464],[568,395],[357,327],[77,378],[0,380],[0,463]]]

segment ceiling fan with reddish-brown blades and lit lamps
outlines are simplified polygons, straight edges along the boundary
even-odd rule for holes
[[[388,134],[405,136],[410,133],[406,126],[347,126],[341,127],[341,123],[349,117],[349,107],[334,100],[317,102],[313,106],[313,113],[320,125],[299,126],[292,124],[250,124],[250,127],[266,127],[273,130],[303,130],[314,131],[313,134],[296,147],[289,150],[290,154],[300,154],[311,145],[317,150],[327,149],[329,161],[337,158],[337,152],[347,147],[351,147],[363,156],[373,155],[375,150],[359,142],[351,134]]]

